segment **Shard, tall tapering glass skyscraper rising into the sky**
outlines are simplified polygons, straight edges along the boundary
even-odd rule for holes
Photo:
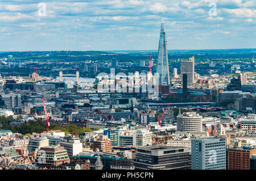
[[[159,85],[168,86],[170,85],[170,74],[168,66],[167,56],[167,40],[166,32],[164,31],[164,22],[162,19],[160,39],[158,47],[158,63],[156,65],[156,73],[159,75]]]

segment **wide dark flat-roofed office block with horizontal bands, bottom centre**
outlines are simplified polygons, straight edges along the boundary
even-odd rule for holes
[[[189,148],[144,146],[136,151],[135,170],[190,170]]]

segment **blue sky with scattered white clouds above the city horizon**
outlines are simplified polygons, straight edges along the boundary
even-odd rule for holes
[[[0,0],[0,52],[256,48],[256,0]]]

